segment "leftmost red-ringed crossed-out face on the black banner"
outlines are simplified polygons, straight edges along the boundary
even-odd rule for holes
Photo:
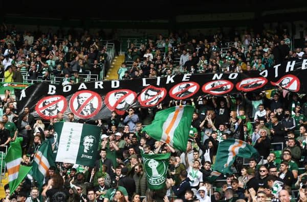
[[[53,95],[41,98],[35,106],[35,111],[43,119],[56,118],[58,113],[64,113],[67,100],[62,95]]]

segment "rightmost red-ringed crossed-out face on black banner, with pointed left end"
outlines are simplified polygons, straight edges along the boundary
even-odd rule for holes
[[[282,76],[276,83],[271,82],[274,86],[280,86],[286,90],[290,90],[293,92],[299,91],[300,88],[300,82],[298,77],[288,74],[285,76]]]

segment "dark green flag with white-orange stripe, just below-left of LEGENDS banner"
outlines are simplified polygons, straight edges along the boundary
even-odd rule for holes
[[[45,140],[36,151],[32,163],[32,176],[37,181],[39,188],[45,183],[45,177],[49,174],[51,166],[56,167],[54,155],[49,141]]]

